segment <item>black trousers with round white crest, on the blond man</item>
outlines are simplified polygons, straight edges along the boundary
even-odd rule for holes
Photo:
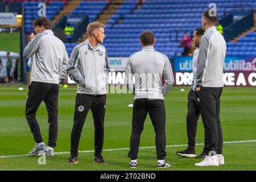
[[[90,96],[77,93],[74,124],[71,132],[71,156],[77,157],[82,127],[89,110],[92,110],[94,121],[94,156],[101,156],[104,142],[104,117],[106,95]]]

